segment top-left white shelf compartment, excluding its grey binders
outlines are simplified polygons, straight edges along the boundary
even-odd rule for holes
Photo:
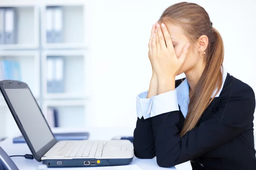
[[[7,7],[7,6],[0,6]],[[8,6],[14,7],[17,17],[15,22],[16,42],[0,44],[0,49],[35,49],[39,43],[39,11],[36,6]]]

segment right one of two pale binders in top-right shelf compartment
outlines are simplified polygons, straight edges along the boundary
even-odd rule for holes
[[[63,9],[62,7],[54,8],[54,31],[53,36],[55,43],[63,42]]]

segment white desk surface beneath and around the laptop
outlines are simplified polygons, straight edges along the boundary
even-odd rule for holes
[[[82,130],[88,131],[90,133],[90,140],[110,140],[114,136],[133,136],[134,127],[90,127],[84,128]],[[82,131],[76,129],[76,131]],[[56,132],[68,132],[74,131],[72,129],[58,130],[53,129],[53,133]],[[0,142],[0,147],[6,151],[8,155],[25,155],[31,154],[28,146],[24,144],[13,144],[12,138],[7,138],[6,140]],[[12,160],[15,162],[20,170],[35,170],[38,165],[42,162],[38,162],[35,159],[25,159],[24,157],[13,157]],[[143,170],[163,170],[163,169],[173,169],[173,168],[162,168],[157,165],[156,159],[138,159],[134,157],[131,164],[137,164]],[[65,170],[82,170],[86,167],[75,167],[75,168],[64,168]],[[49,168],[50,170],[60,170],[60,168]]]

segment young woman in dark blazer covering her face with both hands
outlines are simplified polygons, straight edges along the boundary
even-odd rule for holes
[[[137,96],[135,156],[156,156],[160,167],[190,160],[193,170],[256,170],[255,95],[224,70],[223,41],[204,8],[167,8],[148,47],[153,74]]]

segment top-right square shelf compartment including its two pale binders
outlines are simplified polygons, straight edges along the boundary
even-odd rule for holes
[[[83,5],[44,6],[41,20],[43,48],[86,48],[84,11]]]

